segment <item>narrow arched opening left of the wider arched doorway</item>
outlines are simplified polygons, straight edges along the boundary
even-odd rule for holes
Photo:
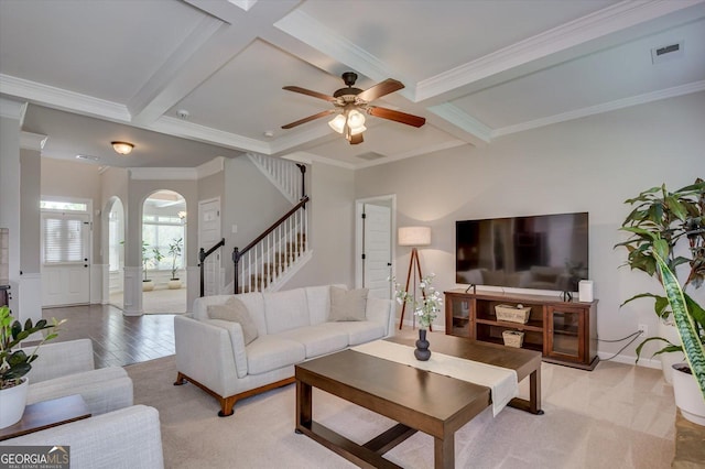
[[[122,200],[119,197],[111,197],[107,209],[108,303],[122,309],[124,296],[124,207]]]

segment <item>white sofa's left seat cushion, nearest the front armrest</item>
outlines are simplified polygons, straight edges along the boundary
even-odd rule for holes
[[[260,374],[305,360],[303,343],[279,336],[260,336],[246,347],[248,374]]]

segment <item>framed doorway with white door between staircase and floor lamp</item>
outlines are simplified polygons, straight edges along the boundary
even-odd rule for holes
[[[356,201],[355,283],[372,297],[392,297],[395,211],[394,195]]]

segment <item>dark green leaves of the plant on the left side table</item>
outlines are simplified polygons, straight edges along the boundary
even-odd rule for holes
[[[58,335],[58,326],[64,324],[66,319],[57,321],[52,318],[52,323],[46,319],[40,319],[36,324],[32,324],[32,319],[28,319],[24,326],[14,317],[8,306],[0,306],[0,390],[13,388],[21,383],[22,377],[30,372],[32,362],[37,359],[39,348],[46,341],[56,338]],[[14,350],[20,342],[34,332],[47,330],[43,339],[35,346],[32,353],[26,355],[24,350]]]

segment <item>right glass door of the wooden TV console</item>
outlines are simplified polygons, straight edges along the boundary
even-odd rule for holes
[[[549,307],[549,355],[583,360],[584,317],[582,309]]]

